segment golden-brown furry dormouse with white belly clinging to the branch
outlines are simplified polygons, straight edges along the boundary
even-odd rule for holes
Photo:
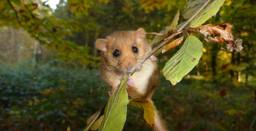
[[[106,39],[98,39],[96,46],[102,51],[101,78],[112,87],[112,91],[118,87],[121,82],[120,78],[125,73],[136,70],[131,77],[135,87],[126,85],[128,95],[131,98],[139,96],[153,103],[151,97],[158,86],[158,69],[155,61],[147,59],[143,63],[151,51],[145,36],[146,32],[142,28],[137,31],[117,31],[107,36]],[[138,53],[132,51],[132,46],[138,48]],[[115,49],[120,51],[120,56],[113,56]],[[128,70],[127,64],[133,67],[132,70]],[[155,112],[154,130],[167,130],[163,126],[157,110]]]

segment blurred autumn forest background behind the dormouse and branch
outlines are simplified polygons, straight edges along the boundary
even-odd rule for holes
[[[187,0],[0,0],[0,130],[82,130],[108,98],[98,38],[160,32]],[[159,76],[155,105],[174,131],[256,130],[256,1],[226,0],[206,24],[231,23],[241,52],[204,43],[199,64],[175,86]],[[179,23],[185,21],[180,16]],[[154,35],[148,34],[148,41]],[[176,47],[158,56],[161,72]],[[128,106],[124,131],[151,130]]]

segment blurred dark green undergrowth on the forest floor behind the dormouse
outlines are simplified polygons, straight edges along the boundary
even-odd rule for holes
[[[67,70],[60,60],[37,69],[0,68],[0,130],[79,131],[108,98],[97,70]],[[94,77],[93,77],[94,76]],[[226,95],[219,92],[225,86]],[[170,130],[249,130],[256,104],[247,86],[187,76],[176,86],[163,76],[153,100]],[[151,130],[143,111],[128,106],[124,131]]]

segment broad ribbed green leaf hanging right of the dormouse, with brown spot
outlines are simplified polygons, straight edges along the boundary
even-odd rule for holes
[[[180,50],[163,67],[163,75],[175,85],[188,74],[202,56],[203,43],[195,36],[189,36]]]

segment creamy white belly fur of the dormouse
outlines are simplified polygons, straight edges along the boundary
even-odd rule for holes
[[[144,95],[147,92],[147,86],[150,77],[154,72],[154,65],[150,59],[147,59],[142,66],[140,71],[136,71],[132,75],[132,80],[135,84],[135,87]]]

